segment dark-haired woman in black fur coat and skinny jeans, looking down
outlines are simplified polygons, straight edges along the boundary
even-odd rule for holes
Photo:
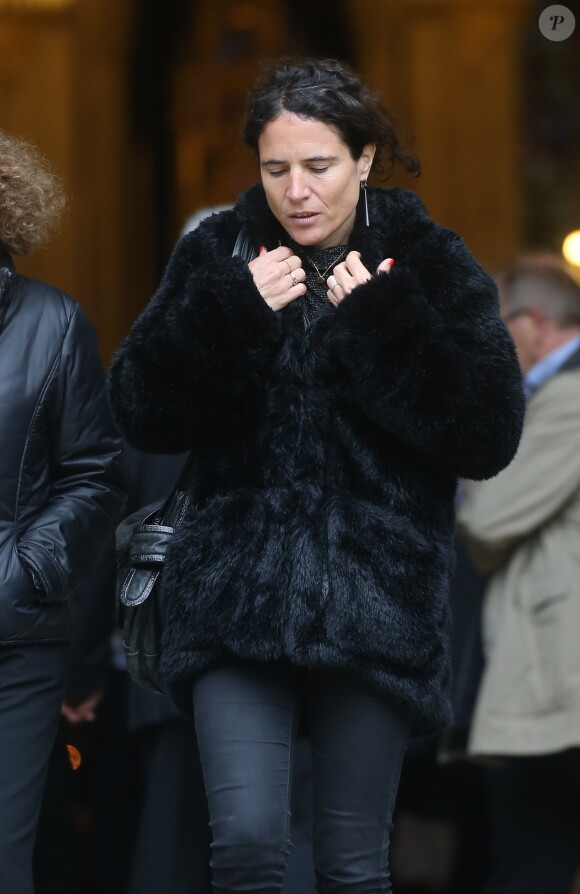
[[[275,65],[245,138],[261,185],[181,239],[111,397],[137,447],[196,457],[162,671],[195,715],[216,892],[281,890],[304,716],[318,890],[377,894],[409,733],[450,719],[456,480],[510,462],[520,374],[461,239],[367,190],[375,157],[418,164],[346,66]]]

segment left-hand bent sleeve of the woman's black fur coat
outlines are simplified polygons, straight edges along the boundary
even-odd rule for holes
[[[230,212],[177,244],[161,285],[113,360],[110,396],[129,441],[152,453],[191,449],[212,419],[241,412],[263,387],[280,321],[233,246]]]

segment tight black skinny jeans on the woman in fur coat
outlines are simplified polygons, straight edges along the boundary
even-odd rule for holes
[[[317,890],[391,891],[388,847],[406,720],[340,674],[278,665],[207,671],[194,684],[193,706],[215,894],[282,890],[302,712],[312,747]]]

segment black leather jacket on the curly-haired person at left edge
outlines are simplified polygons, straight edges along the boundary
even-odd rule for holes
[[[91,323],[0,253],[0,643],[69,639],[124,498]]]

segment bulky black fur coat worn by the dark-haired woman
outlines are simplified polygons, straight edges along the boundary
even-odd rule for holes
[[[449,610],[458,476],[512,459],[521,377],[495,287],[414,194],[369,190],[350,248],[375,270],[305,329],[272,311],[231,252],[288,244],[261,186],[177,245],[119,349],[123,434],[193,449],[192,509],[168,553],[162,670],[191,680],[237,657],[336,668],[417,730],[450,718]]]

